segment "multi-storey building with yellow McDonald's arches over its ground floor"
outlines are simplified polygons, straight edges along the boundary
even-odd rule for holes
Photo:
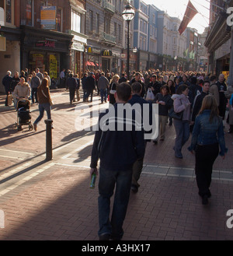
[[[122,12],[122,0],[86,1],[86,69],[120,72],[123,48]]]

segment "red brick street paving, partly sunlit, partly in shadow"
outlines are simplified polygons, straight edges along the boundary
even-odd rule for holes
[[[5,213],[0,240],[98,240],[98,189],[89,189],[93,133],[75,130],[75,107],[65,90],[52,95],[50,162],[44,161],[43,122],[37,133],[16,132],[16,112],[3,107],[0,96],[0,210]],[[31,110],[35,120],[37,105]],[[130,195],[123,240],[232,240],[233,230],[226,226],[233,209],[232,138],[226,134],[227,159],[214,164],[207,206],[197,195],[194,157],[186,149],[183,160],[173,156],[174,128],[167,128],[165,142],[149,143],[140,190]]]

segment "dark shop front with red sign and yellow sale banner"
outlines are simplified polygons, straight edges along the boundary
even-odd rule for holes
[[[71,69],[70,34],[38,30],[23,26],[21,39],[21,66],[29,72],[40,68],[50,77],[59,78],[61,69]]]

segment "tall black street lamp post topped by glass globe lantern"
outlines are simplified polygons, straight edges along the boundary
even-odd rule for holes
[[[127,21],[127,79],[130,79],[130,21],[134,19],[135,11],[129,2],[123,9],[122,16]]]

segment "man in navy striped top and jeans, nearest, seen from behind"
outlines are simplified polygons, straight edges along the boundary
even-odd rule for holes
[[[137,159],[144,157],[144,131],[137,131],[134,111],[127,119],[126,104],[131,96],[127,82],[117,86],[116,103],[99,115],[99,131],[92,147],[90,174],[99,167],[99,240],[120,240],[123,237],[123,220],[127,212],[132,181],[132,169]],[[123,110],[123,111],[120,111]],[[121,114],[119,114],[121,112]],[[127,125],[131,122],[131,129]],[[139,129],[138,129],[139,130]],[[116,184],[113,213],[110,220],[110,198]]]

